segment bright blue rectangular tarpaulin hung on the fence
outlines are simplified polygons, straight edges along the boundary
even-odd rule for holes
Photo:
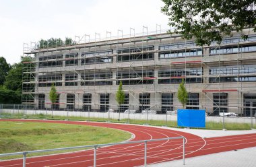
[[[205,110],[178,109],[178,127],[205,127]]]

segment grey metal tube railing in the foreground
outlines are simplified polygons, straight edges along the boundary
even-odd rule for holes
[[[97,156],[98,147],[104,147],[104,146],[110,146],[110,145],[123,145],[123,144],[131,144],[131,143],[144,143],[144,166],[147,166],[147,143],[152,141],[163,141],[163,140],[173,140],[173,139],[183,139],[183,165],[185,165],[185,137],[183,136],[168,137],[168,138],[162,138],[162,139],[139,140],[139,141],[125,141],[120,143],[106,143],[106,144],[98,144],[98,145],[82,145],[82,146],[63,147],[63,148],[55,148],[55,149],[40,149],[40,150],[34,150],[34,151],[28,151],[28,152],[0,154],[0,157],[22,155],[23,156],[22,166],[26,167],[26,156],[28,154],[42,153],[42,152],[55,152],[55,151],[61,151],[61,150],[67,150],[67,149],[84,149],[88,147],[93,147],[94,148],[94,167],[96,167],[96,156]]]

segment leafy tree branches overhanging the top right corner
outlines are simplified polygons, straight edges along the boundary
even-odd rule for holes
[[[254,27],[256,31],[255,0],[162,0],[162,12],[168,15],[169,25],[174,33],[184,38],[195,37],[198,45],[217,41],[222,36],[232,36],[231,32],[241,32],[244,28]],[[248,38],[242,34],[242,38]]]

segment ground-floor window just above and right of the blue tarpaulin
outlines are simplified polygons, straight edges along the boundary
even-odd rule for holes
[[[227,93],[214,93],[214,110],[213,115],[219,115],[220,112],[228,112],[228,94]]]

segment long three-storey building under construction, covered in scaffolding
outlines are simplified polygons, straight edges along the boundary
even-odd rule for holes
[[[156,26],[159,29],[159,26]],[[197,46],[179,34],[130,30],[106,38],[95,34],[76,37],[73,44],[32,46],[24,44],[22,104],[38,109],[106,112],[118,110],[115,94],[122,81],[127,109],[155,110],[158,114],[183,106],[177,99],[182,79],[189,100],[187,108],[205,109],[210,115],[236,112],[250,116],[256,110],[256,34],[243,30],[247,40],[234,32],[222,44]],[[51,104],[51,86],[57,102]]]

